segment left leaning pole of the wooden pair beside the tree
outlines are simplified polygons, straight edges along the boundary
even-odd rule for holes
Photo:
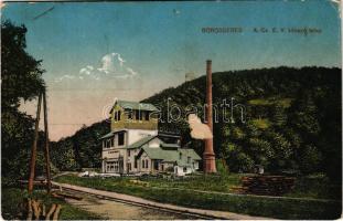
[[[34,170],[35,170],[36,144],[37,144],[37,139],[39,139],[41,105],[42,105],[42,94],[39,95],[35,126],[34,126],[34,139],[33,139],[33,145],[31,148],[30,177],[29,177],[29,186],[28,186],[28,190],[29,190],[30,194],[32,193],[32,190],[33,190],[33,179],[34,179]]]

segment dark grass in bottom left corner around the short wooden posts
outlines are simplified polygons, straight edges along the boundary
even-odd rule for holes
[[[1,215],[4,220],[23,220],[25,219],[23,202],[29,196],[26,190],[19,188],[3,188],[1,196]],[[72,207],[63,200],[47,197],[44,190],[36,190],[33,193],[34,199],[42,200],[42,202],[50,208],[52,203],[60,203],[62,210],[60,220],[99,220],[96,214]]]

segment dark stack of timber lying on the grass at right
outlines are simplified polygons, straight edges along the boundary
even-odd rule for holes
[[[245,176],[242,178],[242,186],[233,188],[238,193],[282,196],[294,187],[293,177],[285,176]]]

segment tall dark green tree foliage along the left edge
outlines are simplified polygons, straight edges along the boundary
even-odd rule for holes
[[[31,101],[45,90],[41,61],[25,52],[25,33],[24,25],[17,27],[9,21],[1,23],[2,186],[26,179],[34,120],[18,107],[20,101]],[[41,160],[37,160],[37,168],[40,172]]]

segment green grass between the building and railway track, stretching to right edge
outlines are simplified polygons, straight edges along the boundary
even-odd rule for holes
[[[226,177],[200,176],[190,180],[176,181],[150,178],[142,182],[132,182],[130,181],[131,179],[132,178],[99,179],[63,176],[58,177],[56,181],[127,193],[149,200],[191,208],[231,211],[277,219],[336,219],[341,214],[342,203],[340,201],[272,199],[254,196],[215,194],[191,190],[229,192],[231,186],[239,183],[239,175]],[[183,190],[172,189],[174,187]]]

